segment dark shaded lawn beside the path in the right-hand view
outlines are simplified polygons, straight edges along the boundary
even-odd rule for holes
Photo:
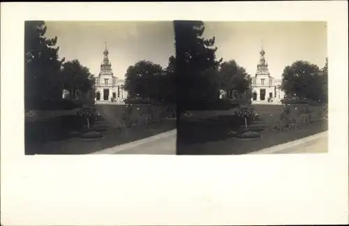
[[[280,105],[255,105],[261,121],[255,121],[251,130],[261,133],[257,140],[237,140],[232,131],[243,130],[244,121],[234,115],[214,116],[211,119],[183,119],[177,124],[177,153],[179,155],[230,155],[245,154],[259,149],[283,144],[327,130],[327,123],[316,122],[303,128],[271,131],[267,121],[271,114],[282,110]]]

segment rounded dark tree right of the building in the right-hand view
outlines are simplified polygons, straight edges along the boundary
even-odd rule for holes
[[[320,69],[308,61],[295,61],[283,70],[282,89],[291,96],[319,100],[322,93]]]

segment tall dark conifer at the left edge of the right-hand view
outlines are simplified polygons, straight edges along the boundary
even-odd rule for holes
[[[201,21],[174,21],[179,111],[186,100],[218,98],[217,70],[222,59],[216,60],[215,38],[202,38],[204,31]]]

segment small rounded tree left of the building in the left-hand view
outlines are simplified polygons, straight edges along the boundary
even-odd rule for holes
[[[63,88],[72,94],[77,90],[87,92],[94,87],[94,75],[77,59],[64,63],[61,75],[64,81]]]

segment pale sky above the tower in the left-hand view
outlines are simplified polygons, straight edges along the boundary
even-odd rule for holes
[[[78,59],[98,75],[105,42],[114,75],[124,79],[128,66],[140,60],[153,61],[163,68],[175,54],[174,29],[168,22],[69,22],[45,21],[47,38],[57,36],[59,57]]]

